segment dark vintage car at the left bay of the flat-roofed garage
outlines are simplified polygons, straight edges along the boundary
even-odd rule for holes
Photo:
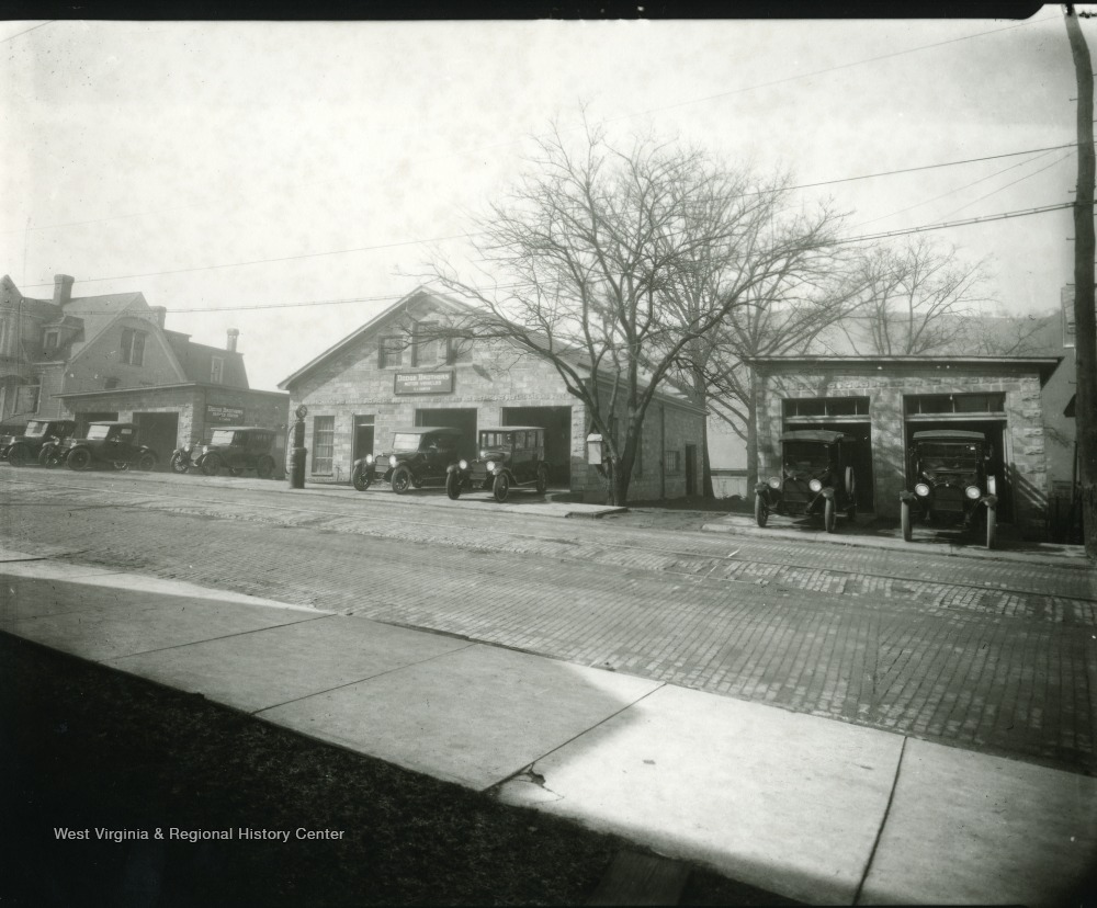
[[[770,511],[789,517],[822,514],[833,533],[837,514],[857,515],[857,476],[848,463],[858,440],[828,429],[785,432],[781,442],[781,475],[755,487],[755,521],[765,526]]]

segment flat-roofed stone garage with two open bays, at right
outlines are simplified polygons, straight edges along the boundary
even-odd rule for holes
[[[993,445],[991,470],[1002,477],[999,520],[1043,538],[1049,480],[1041,393],[1059,363],[1055,356],[754,359],[759,478],[778,469],[782,432],[837,429],[861,440],[858,508],[898,520],[912,434],[979,431]]]

